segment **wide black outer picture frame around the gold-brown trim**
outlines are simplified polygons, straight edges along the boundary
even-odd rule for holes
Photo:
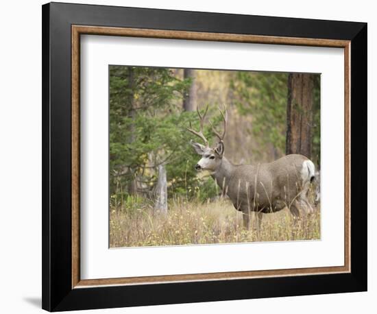
[[[71,25],[351,41],[351,271],[73,289]],[[102,5],[42,5],[42,308],[47,311],[367,291],[367,23]]]

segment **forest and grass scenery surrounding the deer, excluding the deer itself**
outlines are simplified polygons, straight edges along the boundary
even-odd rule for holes
[[[186,130],[190,123],[199,130],[196,110],[206,106],[221,128],[218,108],[226,106],[228,160],[271,162],[297,153],[319,169],[319,74],[110,65],[109,75],[110,246],[319,237],[319,214],[297,230],[283,228],[287,215],[267,221],[275,236],[267,227],[265,237],[241,230],[214,180],[195,171],[199,157],[189,142],[197,138]],[[204,134],[215,145],[210,123]]]

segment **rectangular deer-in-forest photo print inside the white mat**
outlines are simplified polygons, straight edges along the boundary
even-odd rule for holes
[[[110,247],[321,239],[320,74],[109,66]]]

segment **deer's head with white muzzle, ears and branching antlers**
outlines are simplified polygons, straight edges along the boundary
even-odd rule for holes
[[[219,108],[220,110],[220,108]],[[189,132],[195,134],[199,138],[204,141],[204,145],[195,143],[191,141],[191,145],[194,147],[195,152],[197,152],[198,155],[202,156],[202,158],[197,162],[195,165],[195,169],[197,171],[201,170],[209,170],[209,171],[217,171],[217,168],[221,165],[221,159],[223,158],[224,154],[224,143],[223,143],[223,138],[226,134],[226,121],[228,117],[228,112],[226,111],[225,108],[225,114],[220,110],[221,117],[223,117],[223,134],[219,134],[213,127],[212,123],[210,122],[212,126],[212,132],[215,133],[215,135],[219,138],[219,141],[216,143],[215,147],[210,147],[208,144],[208,140],[203,134],[203,126],[204,126],[204,118],[206,117],[208,111],[208,106],[206,107],[206,110],[204,110],[204,114],[200,114],[199,108],[197,108],[197,115],[199,116],[199,121],[200,121],[200,130],[199,132],[193,130],[191,128],[191,123],[190,123],[190,128],[187,128]]]

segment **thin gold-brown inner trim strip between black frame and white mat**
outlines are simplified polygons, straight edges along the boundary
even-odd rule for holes
[[[168,38],[184,40],[208,40],[232,43],[261,43],[274,45],[301,45],[315,47],[338,47],[344,49],[344,261],[337,267],[312,267],[297,269],[273,269],[262,271],[230,271],[208,274],[182,274],[127,278],[80,279],[80,35],[129,36],[142,38]],[[219,34],[206,32],[184,32],[160,29],[136,29],[123,27],[97,27],[72,25],[72,288],[88,288],[108,285],[141,285],[168,282],[204,280],[232,280],[277,276],[300,276],[315,274],[348,273],[351,270],[350,256],[350,40],[319,38],[291,38],[256,36],[245,34]]]

